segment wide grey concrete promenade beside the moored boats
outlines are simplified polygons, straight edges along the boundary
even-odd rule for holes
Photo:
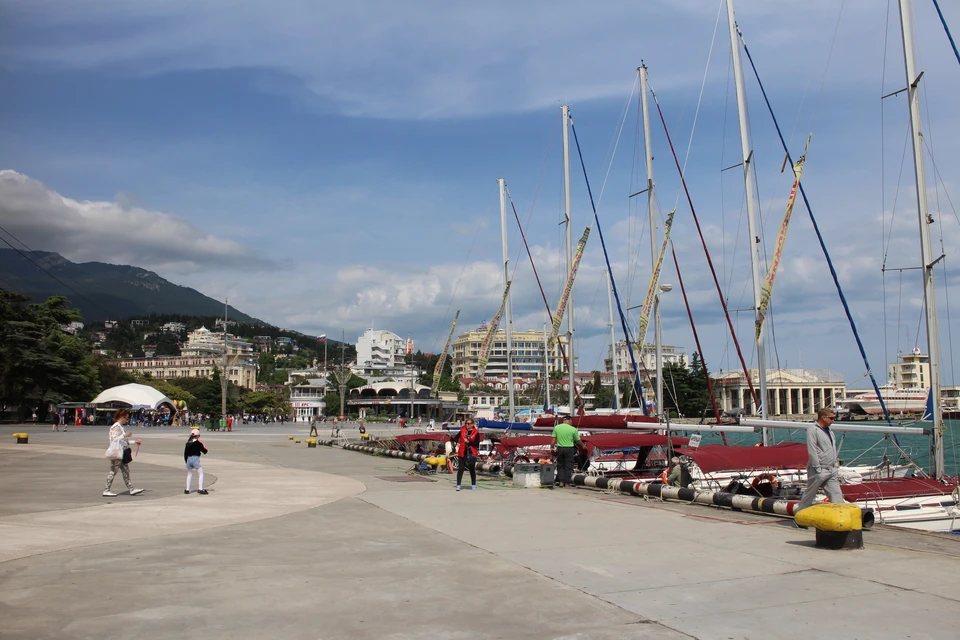
[[[201,496],[196,478],[183,494],[186,430],[135,428],[146,491],[118,476],[104,498],[106,427],[0,427],[0,638],[960,635],[953,536],[878,527],[823,551],[767,516],[499,479],[456,492],[287,438],[307,431],[204,432]]]

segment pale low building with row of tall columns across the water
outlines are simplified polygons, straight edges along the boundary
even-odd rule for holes
[[[760,393],[760,375],[750,369],[754,390]],[[719,409],[759,413],[753,403],[750,385],[742,371],[720,372],[710,376]],[[827,369],[768,369],[767,415],[810,415],[822,407],[833,407],[846,397],[843,376]]]

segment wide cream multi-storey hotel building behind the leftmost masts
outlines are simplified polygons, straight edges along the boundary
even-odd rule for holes
[[[487,328],[481,326],[457,336],[453,343],[453,377],[477,377],[480,368],[480,346],[487,336]],[[544,374],[544,340],[542,331],[513,331],[510,346],[513,355],[513,375],[516,378],[541,378]],[[550,371],[566,371],[566,363],[561,357],[560,345],[566,345],[567,337],[560,336],[553,347],[546,349],[547,364]],[[507,334],[498,329],[493,334],[490,353],[487,354],[485,378],[499,378],[507,375]]]

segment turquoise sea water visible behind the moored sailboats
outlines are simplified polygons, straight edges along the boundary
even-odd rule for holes
[[[862,425],[864,423],[858,424]],[[874,422],[871,424],[880,423]],[[894,424],[927,429],[931,426],[929,422],[920,421]],[[958,470],[960,470],[960,435],[958,435],[960,420],[944,420],[944,426],[946,426],[946,433],[943,435],[944,472],[947,475],[955,476],[958,475]],[[696,431],[691,430],[689,433],[696,433]],[[726,436],[729,444],[753,446],[760,441],[760,434],[756,433],[728,433]],[[771,429],[770,437],[773,438],[774,444],[806,442],[806,431],[803,429],[796,431]],[[723,440],[719,433],[705,433],[702,442],[703,444],[722,444]],[[920,467],[926,471],[931,471],[931,444],[932,438],[930,436],[897,435],[896,440],[894,440],[892,434],[837,432],[837,449],[843,464],[879,464],[883,460],[883,456],[896,463],[900,459],[900,449],[902,449]]]

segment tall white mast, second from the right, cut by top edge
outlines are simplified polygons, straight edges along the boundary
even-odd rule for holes
[[[730,54],[733,56],[733,75],[737,86],[737,113],[740,116],[740,151],[743,154],[743,187],[747,199],[747,226],[750,230],[750,265],[753,272],[753,307],[755,319],[760,313],[760,235],[757,230],[757,204],[753,199],[753,149],[747,125],[747,90],[743,82],[740,62],[740,44],[737,38],[737,20],[733,15],[733,0],[727,0],[727,23],[730,27]],[[767,359],[763,333],[757,338],[757,372],[760,378],[760,418],[767,419]],[[749,375],[749,372],[747,372]],[[754,408],[756,411],[756,408]],[[770,444],[770,433],[763,430],[763,444]]]

